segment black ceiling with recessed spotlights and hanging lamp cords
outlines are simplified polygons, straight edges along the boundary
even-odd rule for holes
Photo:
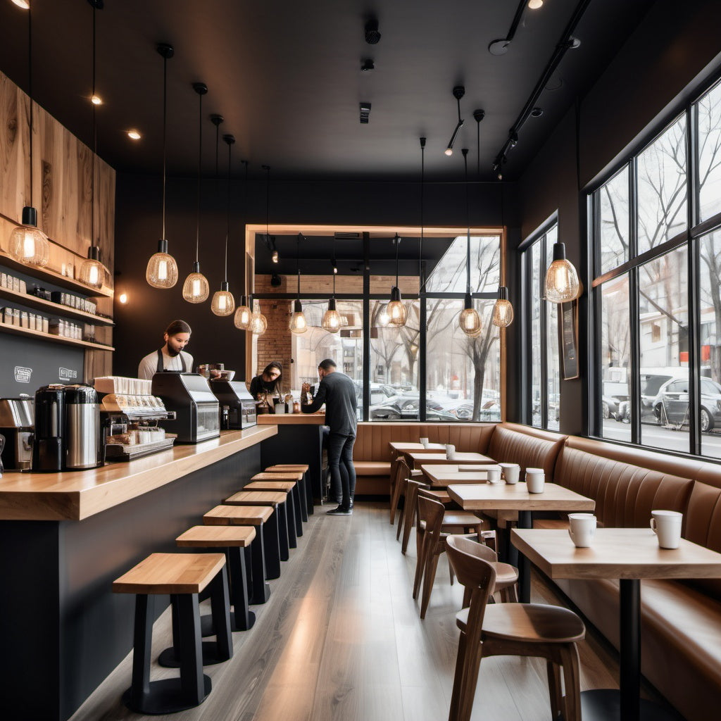
[[[443,150],[456,124],[451,90],[464,84],[466,123],[456,149],[471,149],[476,168],[480,126],[481,177],[508,138],[528,95],[552,56],[579,0],[546,0],[523,12],[504,56],[488,44],[505,37],[516,0],[105,0],[97,12],[99,154],[120,171],[156,173],[162,164],[162,58],[156,43],[174,45],[168,63],[169,172],[193,174],[197,164],[198,97],[204,81],[203,171],[215,170],[215,129],[236,136],[234,157],[254,174],[274,177],[417,177],[419,136],[428,137],[429,179],[459,177],[460,152]],[[580,48],[562,60],[510,151],[506,177],[517,177],[578,94],[614,56],[653,0],[593,0],[575,36]],[[89,141],[92,9],[87,0],[32,0],[37,102]],[[363,27],[379,19],[381,40],[368,45]],[[0,0],[0,70],[27,89],[27,12]],[[375,70],[361,72],[371,58]],[[359,102],[371,102],[368,125]],[[124,131],[138,128],[133,143]],[[221,169],[224,168],[221,148]],[[239,164],[238,164],[239,165]],[[239,174],[239,167],[234,174]]]

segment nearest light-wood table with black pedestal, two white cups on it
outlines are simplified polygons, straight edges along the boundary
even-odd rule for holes
[[[597,528],[590,548],[576,548],[565,530],[519,528],[513,544],[550,578],[618,578],[620,691],[581,694],[584,721],[671,721],[676,715],[640,698],[642,578],[721,578],[721,554],[681,539],[678,549],[658,547],[650,528]]]

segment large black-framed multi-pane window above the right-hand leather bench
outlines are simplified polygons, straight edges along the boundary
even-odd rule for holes
[[[604,438],[721,458],[720,198],[718,86],[591,195]]]

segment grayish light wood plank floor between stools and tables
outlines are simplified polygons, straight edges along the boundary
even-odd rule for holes
[[[254,606],[255,627],[234,634],[234,657],[208,666],[213,691],[182,714],[140,717],[120,703],[131,656],[72,721],[442,721],[448,717],[462,588],[445,554],[425,621],[411,598],[415,544],[402,556],[387,505],[355,505],[353,516],[317,508],[298,549]],[[557,603],[534,581],[533,601]],[[154,629],[154,658],[169,645],[169,614]],[[617,688],[613,658],[592,637],[580,648],[581,688]],[[151,678],[177,674],[154,666]],[[544,663],[483,660],[474,720],[548,721]]]

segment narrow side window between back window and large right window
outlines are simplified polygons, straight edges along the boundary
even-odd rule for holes
[[[561,368],[558,343],[558,306],[544,300],[546,269],[553,260],[558,225],[553,223],[523,251],[531,319],[528,359],[528,414],[536,428],[559,430],[561,421]]]

